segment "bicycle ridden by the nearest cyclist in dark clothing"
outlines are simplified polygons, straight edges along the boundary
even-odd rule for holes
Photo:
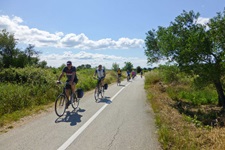
[[[61,82],[57,82],[57,84],[62,84]],[[70,90],[70,98],[66,95],[66,89]],[[79,106],[80,98],[77,96],[77,90],[75,94],[71,90],[71,86],[68,82],[66,82],[65,86],[63,87],[63,91],[55,100],[55,113],[57,116],[61,117],[66,111],[66,105],[72,105],[73,109],[76,110]],[[69,103],[69,104],[66,104]]]

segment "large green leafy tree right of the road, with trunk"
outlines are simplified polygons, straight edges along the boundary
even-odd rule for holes
[[[197,23],[199,16],[183,11],[169,27],[150,30],[145,54],[150,64],[160,59],[174,62],[181,71],[195,75],[195,82],[201,86],[213,83],[219,104],[225,108],[221,83],[225,73],[225,11],[209,21],[209,29]]]

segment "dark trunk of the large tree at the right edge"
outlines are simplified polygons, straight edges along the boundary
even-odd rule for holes
[[[217,94],[218,94],[218,105],[223,106],[223,108],[225,108],[225,96],[224,96],[224,93],[223,93],[222,84],[221,84],[220,80],[214,81],[214,84],[216,86],[216,91],[217,91]]]

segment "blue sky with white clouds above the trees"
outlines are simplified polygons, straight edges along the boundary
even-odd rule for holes
[[[40,51],[48,66],[113,63],[152,68],[145,56],[149,30],[168,27],[183,10],[207,22],[225,8],[224,0],[0,0],[0,30],[25,50]]]

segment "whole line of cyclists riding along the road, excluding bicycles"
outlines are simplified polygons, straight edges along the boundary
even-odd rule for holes
[[[62,73],[60,74],[58,81],[60,82],[61,78],[64,76],[64,74],[66,74],[67,80],[66,82],[71,86],[71,90],[73,92],[73,94],[75,94],[76,91],[76,84],[78,83],[78,78],[76,75],[76,67],[72,65],[71,61],[67,61],[66,63],[67,65],[63,68]],[[129,81],[131,79],[131,75],[132,78],[134,78],[136,76],[136,72],[133,70],[131,73],[129,70],[127,70],[127,80]],[[142,76],[142,72],[141,72],[141,76]],[[95,70],[94,73],[94,77],[97,77],[98,79],[98,84],[100,83],[102,86],[104,85],[104,78],[106,76],[105,70],[102,67],[102,65],[99,65],[98,68]],[[122,71],[120,70],[120,68],[118,68],[117,70],[117,77],[118,79],[121,78],[122,76]],[[69,97],[69,90],[66,90],[66,95],[67,97]],[[68,108],[69,106],[69,102],[66,103],[66,108]]]

